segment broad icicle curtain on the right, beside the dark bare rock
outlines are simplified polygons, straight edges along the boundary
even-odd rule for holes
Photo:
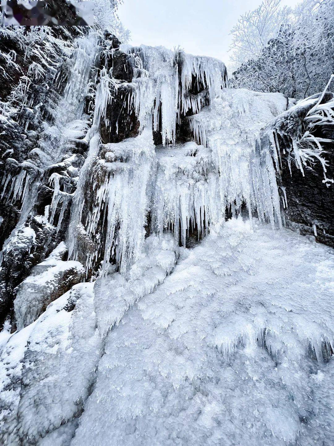
[[[196,141],[211,149],[219,172],[219,218],[226,207],[232,207],[234,215],[245,202],[250,218],[256,210],[261,221],[281,225],[273,152],[269,141],[261,139],[261,128],[268,116],[277,116],[285,107],[280,94],[224,89],[210,107],[188,118]]]

